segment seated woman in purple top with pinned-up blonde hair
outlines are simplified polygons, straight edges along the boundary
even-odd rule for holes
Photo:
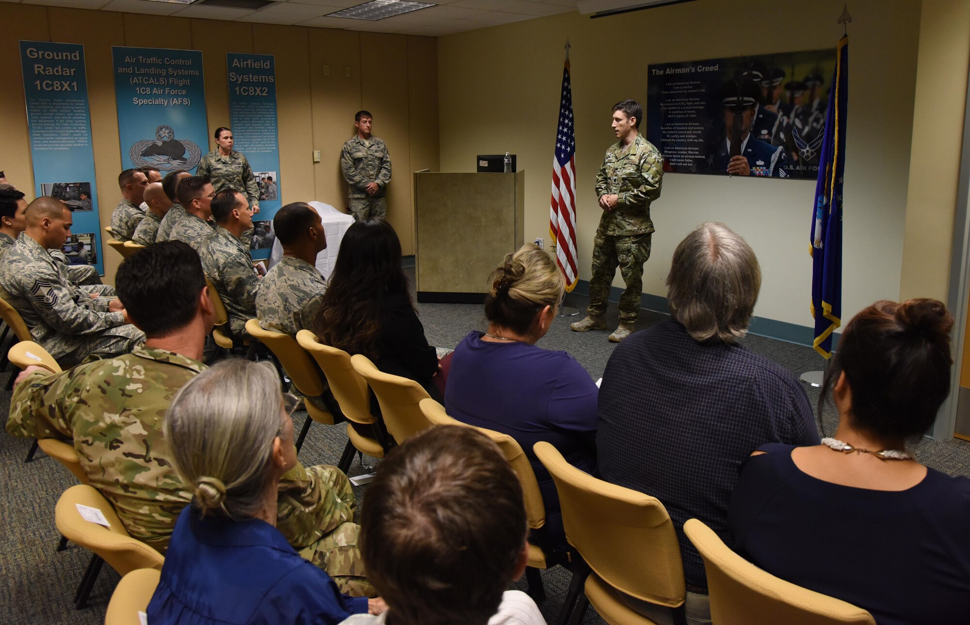
[[[546,523],[542,546],[565,548],[556,485],[533,453],[555,445],[574,467],[596,474],[598,388],[565,351],[535,346],[563,299],[563,275],[533,244],[505,256],[485,301],[488,332],[471,332],[457,347],[445,386],[452,417],[514,438],[533,465]]]

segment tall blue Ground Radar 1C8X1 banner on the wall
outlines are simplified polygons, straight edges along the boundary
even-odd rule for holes
[[[63,248],[68,261],[94,265],[104,275],[84,47],[21,41],[20,63],[34,193],[56,197],[71,209],[73,236]]]

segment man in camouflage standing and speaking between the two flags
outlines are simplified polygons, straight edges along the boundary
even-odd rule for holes
[[[593,278],[588,316],[569,327],[576,332],[602,330],[603,313],[617,266],[627,289],[620,296],[620,326],[609,335],[619,343],[630,336],[640,312],[643,264],[650,258],[650,203],[661,196],[663,157],[639,134],[643,108],[635,100],[613,107],[613,130],[619,141],[606,150],[597,174],[599,227],[593,240]]]

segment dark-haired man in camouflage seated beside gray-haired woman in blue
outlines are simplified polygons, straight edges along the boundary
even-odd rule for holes
[[[165,553],[189,503],[162,426],[178,389],[206,368],[201,360],[214,312],[199,255],[179,241],[132,254],[117,291],[147,335],[113,359],[50,375],[28,367],[17,378],[7,431],[74,444],[91,485],[133,537]],[[164,301],[165,306],[159,306]],[[343,592],[372,595],[351,523],[354,495],[336,467],[299,462],[278,488],[276,527]]]

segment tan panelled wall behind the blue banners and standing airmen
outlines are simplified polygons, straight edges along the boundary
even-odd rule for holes
[[[388,219],[404,253],[413,253],[411,167],[438,166],[436,39],[8,3],[2,8],[0,64],[11,75],[0,91],[0,169],[28,196],[33,195],[34,181],[18,40],[84,45],[103,226],[111,221],[118,201],[121,168],[112,46],[202,50],[210,135],[229,122],[225,53],[274,54],[283,203],[319,200],[345,209],[339,150],[354,132],[354,113],[368,109],[374,115],[374,134],[387,142],[394,165]],[[325,66],[330,68],[326,76]],[[321,152],[319,163],[312,162],[314,149]],[[112,281],[120,257],[107,247],[103,253]]]

